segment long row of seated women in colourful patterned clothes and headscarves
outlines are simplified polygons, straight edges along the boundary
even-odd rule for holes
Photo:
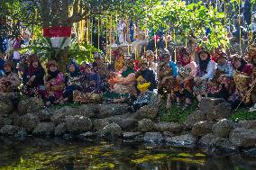
[[[66,73],[58,61],[32,54],[14,67],[1,54],[0,93],[19,92],[41,97],[45,106],[64,103],[129,103],[134,112],[144,105],[162,103],[166,108],[177,104],[183,109],[202,97],[224,98],[233,108],[256,103],[256,46],[248,48],[247,58],[228,56],[223,49],[214,52],[198,48],[177,49],[174,61],[168,49],[160,56],[147,50],[138,59],[125,58],[121,48],[114,50],[114,62],[96,52],[93,63],[81,65],[70,60]],[[45,66],[45,67],[44,67]],[[252,107],[254,111],[254,108]]]

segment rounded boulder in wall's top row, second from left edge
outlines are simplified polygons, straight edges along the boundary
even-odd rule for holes
[[[18,112],[20,115],[24,115],[26,113],[38,112],[44,106],[41,98],[37,97],[29,97],[24,98],[18,104]]]

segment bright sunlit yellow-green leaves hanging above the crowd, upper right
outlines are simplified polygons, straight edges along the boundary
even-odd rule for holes
[[[186,4],[185,1],[173,0],[156,5],[149,11],[147,20],[154,31],[165,28],[181,37],[193,34],[201,45],[213,49],[228,43],[224,17],[225,13],[218,12],[211,5],[206,7],[201,1]],[[209,40],[203,43],[200,40],[206,35],[206,29],[211,33]]]

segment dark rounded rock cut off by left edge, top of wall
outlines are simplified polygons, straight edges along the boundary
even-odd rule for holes
[[[0,117],[14,111],[14,104],[9,97],[0,95]]]

